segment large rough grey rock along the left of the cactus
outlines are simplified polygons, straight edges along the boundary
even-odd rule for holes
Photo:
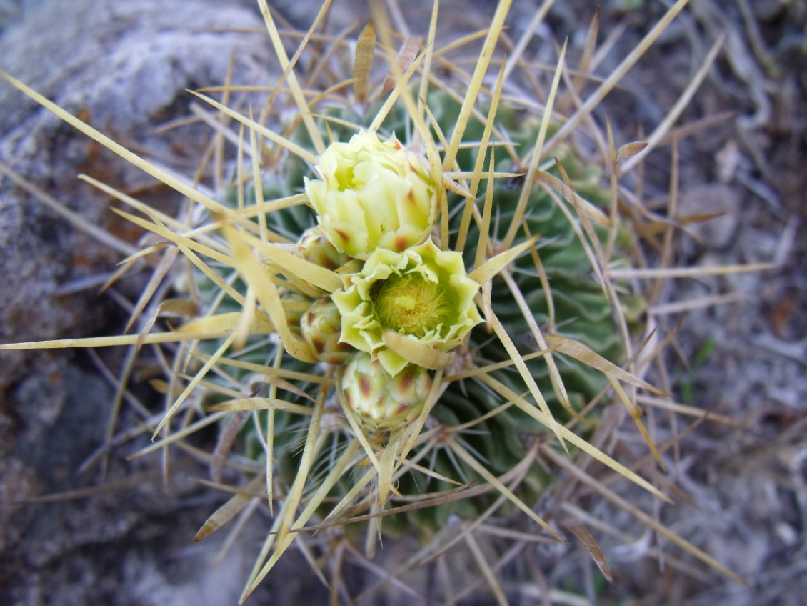
[[[11,10],[17,6],[20,11]],[[155,133],[155,127],[187,115],[193,98],[186,88],[223,83],[231,57],[240,82],[255,81],[267,65],[277,68],[253,2],[36,0],[24,7],[6,2],[0,9],[0,68],[115,141],[182,174],[198,160],[209,128]],[[259,33],[214,31],[220,28]],[[136,246],[140,234],[115,219],[108,196],[77,180],[77,173],[136,191],[162,208],[178,203],[178,196],[155,187],[148,175],[5,81],[0,108],[2,165],[129,246]],[[0,250],[0,343],[122,330],[122,314],[111,299],[73,288],[82,280],[103,280],[122,253],[76,229],[5,176]],[[136,296],[134,286],[121,288]],[[102,483],[92,472],[75,477],[102,444],[113,394],[87,366],[87,357],[73,351],[0,354],[2,604],[133,604],[129,590],[142,574],[129,578],[123,568],[151,566],[166,586],[174,583],[172,558],[181,559],[178,551],[192,544],[195,530],[222,500],[207,493],[203,503],[190,507],[200,490],[187,475],[203,475],[204,467],[185,463],[180,482],[172,480],[171,490],[163,490],[154,473],[159,457],[127,462],[117,453],[103,482],[127,478],[128,486],[91,499],[19,503]],[[133,482],[133,474],[142,482]],[[210,575],[210,563],[192,572],[182,579],[189,587],[177,595],[199,595],[203,586],[194,587],[199,575]],[[240,571],[227,586],[242,583],[245,574]],[[192,601],[200,603],[198,597]]]

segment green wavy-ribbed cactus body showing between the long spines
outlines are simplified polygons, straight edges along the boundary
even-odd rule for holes
[[[429,96],[429,107],[444,133],[450,133],[450,129],[453,128],[458,116],[458,103],[444,93],[436,93]],[[360,120],[359,116],[351,110],[329,111],[328,113],[341,120],[353,120],[365,126],[373,117],[370,110],[363,120]],[[514,143],[520,145],[517,149],[524,153],[525,151],[529,152],[529,149],[534,145],[540,121],[534,117],[523,119],[521,113],[509,107],[500,107],[496,117],[496,126],[508,133],[508,137]],[[382,131],[392,137],[397,135],[403,140],[405,120],[405,112],[391,112],[383,124]],[[352,136],[349,129],[338,124],[332,128],[332,133],[336,137],[344,137],[345,140]],[[466,131],[466,137],[470,140],[478,139],[481,134],[481,124],[470,124]],[[295,141],[310,145],[307,133],[304,133],[303,129],[299,129],[295,135]],[[564,169],[567,170],[575,190],[593,203],[604,204],[608,200],[608,191],[600,183],[600,170],[596,166],[587,167],[584,162],[575,156],[571,147],[567,145],[562,146],[560,152],[558,159]],[[507,154],[499,154],[497,158],[501,158],[497,160],[497,170],[515,172],[525,170],[523,166],[516,166]],[[458,154],[459,166],[470,168],[474,165],[474,162],[475,153],[472,150],[460,150]],[[282,183],[271,184],[265,182],[263,184],[265,199],[270,199],[270,196],[288,196],[302,191],[306,186],[311,187],[312,181],[303,179],[305,175],[303,170],[300,170],[299,158],[290,156],[286,163],[291,166],[289,170],[285,171],[286,179]],[[557,169],[552,171],[558,174]],[[511,179],[500,179],[495,183],[494,210],[496,221],[491,225],[491,240],[498,241],[504,238],[504,232],[509,225],[509,220],[515,211],[516,203],[521,193],[522,182],[523,177],[513,177]],[[248,193],[248,198],[253,197],[253,194]],[[449,207],[457,208],[459,204],[462,204],[462,199],[454,194],[449,194]],[[452,232],[459,227],[460,215],[461,213],[454,214],[450,224]],[[312,213],[309,208],[294,207],[276,211],[267,215],[266,220],[272,229],[290,239],[297,234],[297,241],[299,242],[298,254],[312,261],[312,263],[328,267],[328,269],[337,269],[337,267],[345,265],[352,259],[349,254],[339,252],[328,240],[324,239],[321,221],[319,227],[316,227],[316,213]],[[429,217],[429,221],[433,221],[433,217]],[[578,340],[596,351],[600,356],[608,360],[619,361],[621,356],[624,355],[624,347],[613,320],[613,310],[604,296],[600,284],[592,274],[592,267],[587,259],[583,245],[579,242],[579,237],[575,234],[575,229],[573,229],[567,216],[562,213],[558,208],[558,204],[552,200],[546,191],[541,190],[539,187],[534,187],[533,193],[529,197],[525,223],[531,234],[541,234],[537,250],[552,288],[555,325],[561,327],[563,335]],[[598,234],[604,240],[604,230],[600,230]],[[524,238],[524,236],[520,238]],[[414,242],[416,240],[412,239],[412,243]],[[479,229],[474,222],[471,223],[466,242],[467,245],[462,250],[462,259],[464,259],[465,266],[468,267],[475,259],[476,243],[479,242]],[[395,246],[392,246],[392,248],[395,248]],[[403,248],[405,250],[407,246]],[[383,252],[383,254],[395,255],[397,253],[390,250],[389,252]],[[365,255],[362,254],[362,256]],[[462,267],[454,267],[454,271],[462,271]],[[462,272],[464,273],[464,271]],[[516,260],[512,275],[518,288],[523,293],[529,309],[533,311],[535,321],[539,326],[546,327],[549,321],[546,293],[541,288],[541,282],[537,276],[533,260],[529,255]],[[368,292],[365,292],[366,297],[364,299],[370,301],[370,298],[373,298],[373,302],[377,302],[378,288],[372,293],[370,293],[372,284],[368,283],[366,288]],[[521,310],[509,292],[507,284],[505,284],[504,280],[496,278],[493,281],[492,288],[492,309],[497,317],[500,318],[508,335],[512,336],[514,343],[524,355],[537,351],[539,347],[537,347],[537,343],[533,339]],[[356,287],[354,285],[349,292],[355,291]],[[371,297],[371,294],[374,297]],[[473,296],[473,292],[470,292],[470,295]],[[358,297],[358,299],[353,301],[351,297]],[[383,293],[381,293],[381,297],[383,304]],[[296,330],[296,326],[302,324],[301,332],[307,343],[316,351],[316,356],[328,364],[336,365],[341,389],[346,396],[345,399],[348,401],[349,406],[357,412],[357,418],[360,420],[363,431],[368,432],[368,435],[376,436],[375,439],[380,439],[383,444],[386,439],[378,436],[382,436],[385,431],[391,431],[402,427],[406,423],[411,423],[412,419],[416,417],[416,413],[420,410],[422,402],[420,404],[411,404],[407,401],[406,404],[401,402],[399,406],[394,406],[395,394],[399,393],[400,390],[391,387],[394,380],[390,378],[387,371],[379,368],[377,362],[371,364],[368,354],[360,353],[351,356],[350,351],[353,351],[353,347],[349,347],[345,343],[338,343],[336,325],[340,315],[339,311],[341,311],[342,317],[345,314],[353,314],[354,310],[361,312],[360,308],[364,303],[362,302],[362,297],[359,297],[358,294],[348,296],[347,292],[337,292],[334,300],[337,302],[336,306],[333,305],[331,298],[324,292],[319,300],[313,300],[296,292],[288,292],[283,297],[283,301],[286,301],[290,307],[295,309],[298,309],[300,305],[307,305],[308,302],[312,303],[313,314],[291,312],[288,315],[290,326],[295,326]],[[456,303],[452,302],[452,305],[456,305]],[[625,297],[623,305],[629,309],[635,308],[637,310],[633,314],[633,318],[636,318],[638,312],[642,309],[641,300],[634,297]],[[339,311],[335,309],[336,307],[339,308]],[[477,314],[475,305],[473,305],[472,311]],[[302,321],[300,321],[301,316]],[[384,319],[383,314],[381,314],[381,318],[382,320]],[[469,328],[479,324],[480,319],[477,314],[470,322]],[[405,333],[406,331],[404,330],[403,332]],[[315,334],[316,337],[313,337],[312,335]],[[365,351],[371,351],[373,355],[378,353],[379,348],[384,349],[383,342],[380,341],[380,330],[375,335],[374,341],[368,343],[363,343],[362,338],[358,336],[351,339],[346,335],[347,333],[342,335],[343,341],[347,339],[353,346]],[[457,343],[466,340],[464,345],[464,348],[468,351],[466,355],[471,356],[471,359],[475,360],[476,364],[483,365],[508,359],[508,354],[504,351],[504,347],[496,339],[491,339],[491,335],[483,323],[472,328],[467,336],[470,338],[458,339]],[[461,337],[466,337],[466,334],[463,333]],[[395,364],[392,364],[392,367],[387,370],[397,370],[406,366],[405,360],[400,359],[399,356],[395,357]],[[269,358],[270,356],[266,355],[266,360],[269,360]],[[268,361],[265,363],[268,363]],[[553,414],[557,415],[558,419],[567,419],[567,412],[560,406],[550,384],[546,361],[542,359],[530,360],[527,364],[529,372],[536,378],[541,392],[545,394]],[[362,371],[358,372],[358,368],[362,368]],[[406,368],[411,370],[412,365],[410,364]],[[593,398],[608,383],[601,372],[576,360],[563,360],[562,364],[558,364],[558,369],[566,386],[569,402],[571,402],[575,410],[582,408],[585,402]],[[420,389],[416,389],[416,392],[419,394],[418,398],[423,398],[424,389],[428,391],[424,386],[430,385],[431,377],[429,372],[422,368],[418,369],[418,376]],[[492,372],[492,376],[516,392],[523,391],[523,387],[520,386],[517,375],[514,374],[512,369]],[[361,377],[361,381],[358,377]],[[369,400],[367,398],[362,399],[360,385],[364,385],[369,390],[367,393],[372,394]],[[381,398],[378,395],[379,393],[384,393],[384,397]],[[335,395],[330,396],[330,398],[336,399]],[[305,404],[302,398],[292,399],[295,402]],[[441,398],[434,406],[426,427],[436,427],[439,424],[445,427],[455,427],[462,423],[471,423],[495,410],[503,403],[504,398],[492,393],[491,389],[480,385],[474,379],[453,381],[448,384],[448,389],[445,390],[445,393],[442,393]],[[261,421],[261,423],[263,422]],[[275,423],[278,423],[276,429],[279,429],[286,427],[286,423],[291,423],[291,427],[296,427],[295,423],[299,423],[299,421],[288,418],[288,415],[277,415]],[[245,429],[247,434],[254,431],[254,428],[250,429],[249,427],[253,426],[247,426]],[[351,430],[348,423],[341,423],[332,431],[336,432],[335,438],[338,444],[344,446],[350,439]],[[501,475],[507,473],[509,469],[513,469],[522,461],[525,456],[525,440],[530,435],[546,435],[546,427],[541,426],[540,423],[537,423],[523,411],[511,406],[482,423],[478,423],[473,428],[473,431],[468,433],[460,432],[456,437],[462,440],[462,444],[466,444],[468,448],[478,452],[479,457],[486,461],[486,465],[492,473]],[[246,443],[253,444],[253,440],[248,437]],[[291,482],[295,475],[296,465],[299,465],[299,454],[295,454],[295,444],[291,441],[285,443],[281,441],[275,444],[275,449],[278,451],[276,458],[279,477],[286,478],[287,482]],[[253,453],[258,452],[262,456],[262,453],[257,451],[254,446],[249,450]],[[417,448],[413,454],[416,456],[416,453]],[[325,455],[323,454],[322,457],[325,457]],[[320,465],[325,465],[325,463],[323,462]],[[454,478],[458,482],[474,482],[482,479],[465,462],[458,461],[456,457],[450,457],[445,448],[437,449],[436,457],[430,458],[429,466],[441,476]],[[525,499],[525,502],[533,502],[540,496],[542,488],[550,480],[551,478],[545,469],[542,469],[540,465],[533,464],[529,472],[526,473],[525,480],[516,487],[516,494]],[[414,470],[399,478],[398,486],[401,492],[408,494],[416,493],[418,490],[435,492],[449,490],[452,487],[448,482],[429,477]],[[332,494],[341,496],[349,488],[350,482],[338,482],[337,486],[332,490]],[[415,509],[404,514],[385,516],[383,528],[385,532],[391,534],[415,529],[425,539],[430,537],[433,532],[437,532],[438,529],[444,527],[450,514],[454,513],[470,517],[478,515],[492,503],[494,498],[493,495],[486,494],[437,507]],[[327,515],[328,513],[327,507],[323,507],[321,511],[322,515]],[[359,525],[357,530],[360,528],[363,527]]]

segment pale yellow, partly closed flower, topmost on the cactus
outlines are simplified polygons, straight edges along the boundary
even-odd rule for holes
[[[437,193],[415,154],[392,137],[362,131],[332,143],[304,179],[320,229],[340,252],[367,259],[377,248],[405,250],[437,223]]]

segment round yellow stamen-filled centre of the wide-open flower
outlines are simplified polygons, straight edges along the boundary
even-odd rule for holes
[[[402,335],[423,337],[429,330],[445,323],[450,304],[441,293],[440,284],[420,274],[391,276],[373,284],[378,322]]]

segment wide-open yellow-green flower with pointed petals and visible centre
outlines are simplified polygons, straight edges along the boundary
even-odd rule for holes
[[[462,255],[431,240],[403,252],[378,249],[347,280],[349,288],[331,296],[341,340],[372,354],[392,376],[407,360],[387,348],[384,330],[449,351],[482,322],[474,303],[479,284],[466,274]]]

